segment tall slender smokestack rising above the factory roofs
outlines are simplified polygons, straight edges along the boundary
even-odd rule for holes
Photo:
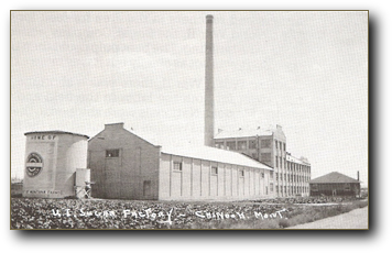
[[[213,15],[206,15],[206,80],[204,144],[214,146],[214,40]]]

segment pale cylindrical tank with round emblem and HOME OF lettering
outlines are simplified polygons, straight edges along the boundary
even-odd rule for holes
[[[28,132],[23,197],[75,196],[76,168],[87,167],[87,135]]]

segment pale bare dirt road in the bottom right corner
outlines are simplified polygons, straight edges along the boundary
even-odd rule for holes
[[[347,213],[287,229],[369,229],[369,208],[358,208]]]

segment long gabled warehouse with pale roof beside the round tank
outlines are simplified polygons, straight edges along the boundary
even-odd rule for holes
[[[237,152],[160,146],[123,123],[88,142],[92,197],[236,200],[274,197],[273,169]]]

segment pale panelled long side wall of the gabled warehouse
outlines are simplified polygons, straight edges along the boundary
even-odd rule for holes
[[[174,169],[182,163],[182,170]],[[218,168],[215,174],[213,168]],[[243,176],[242,172],[243,170]],[[161,154],[160,194],[162,200],[237,200],[270,197],[263,190],[269,170],[236,166],[178,155]]]

